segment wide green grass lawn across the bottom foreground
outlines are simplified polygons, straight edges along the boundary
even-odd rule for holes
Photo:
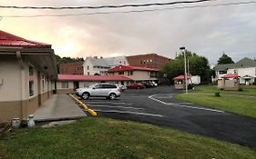
[[[55,128],[15,129],[0,140],[0,158],[256,158],[256,152],[150,124],[87,117]]]

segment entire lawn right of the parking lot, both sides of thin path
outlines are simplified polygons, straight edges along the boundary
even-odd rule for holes
[[[176,94],[175,97],[186,102],[256,118],[256,86],[242,86],[242,90],[224,91],[218,90],[216,86],[196,86],[195,90],[189,93],[198,94]],[[214,95],[216,92],[220,93],[220,97]]]

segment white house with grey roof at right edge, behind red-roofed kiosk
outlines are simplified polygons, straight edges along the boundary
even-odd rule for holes
[[[240,75],[240,84],[256,83],[256,61],[250,58],[243,58],[235,64],[216,65],[216,80],[223,75]]]

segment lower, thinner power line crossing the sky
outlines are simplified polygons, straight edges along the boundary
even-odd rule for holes
[[[192,9],[203,7],[216,7],[216,6],[230,6],[230,5],[251,5],[256,4],[256,1],[240,2],[240,3],[227,3],[227,4],[215,4],[215,5],[188,5],[177,6],[171,8],[159,8],[159,9],[146,9],[146,10],[134,10],[134,11],[117,11],[117,12],[95,12],[95,13],[82,13],[82,14],[65,14],[65,15],[1,15],[2,18],[22,18],[22,17],[61,17],[61,16],[77,16],[77,15],[110,15],[110,14],[129,14],[129,13],[142,13],[142,12],[155,12],[155,11],[168,11],[178,9]]]

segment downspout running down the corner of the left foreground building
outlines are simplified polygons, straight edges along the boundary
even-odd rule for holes
[[[22,61],[22,56],[20,51],[16,51],[16,58],[17,61],[20,65],[21,68],[21,74],[20,74],[20,78],[21,78],[21,119],[23,120],[24,118],[26,118],[26,105],[25,102],[23,101],[25,99],[25,64]],[[25,110],[24,110],[25,109]]]

